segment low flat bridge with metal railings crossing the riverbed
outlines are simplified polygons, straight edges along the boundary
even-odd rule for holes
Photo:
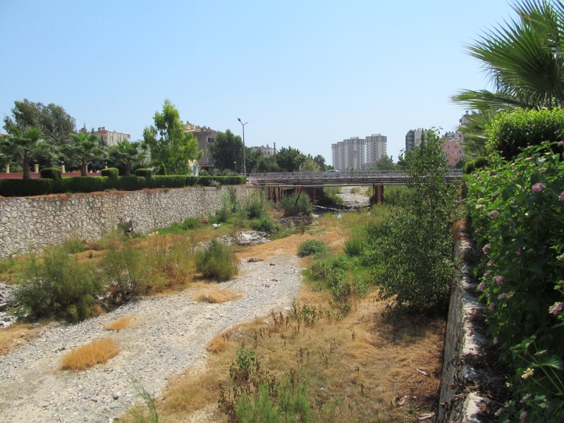
[[[447,183],[462,180],[462,170],[452,169],[446,176]],[[295,189],[298,195],[302,190],[315,202],[315,188],[350,185],[372,185],[377,204],[384,202],[384,185],[406,185],[411,177],[403,171],[349,171],[343,173],[326,172],[283,172],[252,173],[247,183],[257,188],[267,188],[269,197],[280,200],[282,190]],[[297,200],[296,200],[297,201]]]

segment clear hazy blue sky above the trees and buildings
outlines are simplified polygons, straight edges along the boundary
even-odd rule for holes
[[[0,116],[55,103],[78,128],[133,140],[171,99],[184,121],[331,164],[331,143],[454,130],[449,97],[488,80],[465,44],[515,16],[507,0],[0,0]]]

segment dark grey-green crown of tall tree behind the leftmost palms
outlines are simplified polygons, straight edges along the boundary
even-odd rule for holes
[[[13,104],[13,116],[4,117],[4,129],[8,133],[13,134],[15,129],[25,132],[30,128],[39,128],[45,140],[61,145],[75,132],[75,118],[61,106],[52,103],[46,106],[27,99]]]

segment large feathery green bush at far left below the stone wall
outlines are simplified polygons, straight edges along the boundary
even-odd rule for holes
[[[32,317],[62,317],[71,321],[90,316],[102,282],[90,264],[81,264],[63,246],[49,247],[41,259],[30,255],[20,276],[16,298]]]

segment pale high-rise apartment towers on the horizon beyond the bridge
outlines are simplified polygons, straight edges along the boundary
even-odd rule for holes
[[[331,144],[333,168],[339,171],[371,166],[386,154],[388,138],[373,134],[366,138],[350,137]]]

